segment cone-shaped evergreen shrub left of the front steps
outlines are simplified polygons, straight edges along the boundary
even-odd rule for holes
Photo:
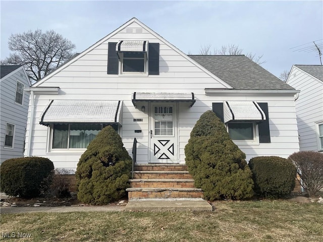
[[[111,127],[103,128],[82,154],[76,170],[80,201],[108,204],[126,194],[132,160],[122,139]]]

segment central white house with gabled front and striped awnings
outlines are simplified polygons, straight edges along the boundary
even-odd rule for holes
[[[26,156],[75,170],[113,125],[137,163],[185,163],[200,115],[213,110],[247,160],[299,151],[294,88],[244,55],[186,55],[136,18],[30,88]]]

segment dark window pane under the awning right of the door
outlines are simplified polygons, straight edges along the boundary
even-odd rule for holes
[[[232,140],[253,140],[253,123],[228,123],[229,136]]]

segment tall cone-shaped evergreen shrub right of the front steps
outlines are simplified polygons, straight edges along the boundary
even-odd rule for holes
[[[185,156],[194,185],[204,191],[205,199],[236,200],[253,196],[246,155],[233,143],[212,111],[204,112],[195,124],[185,146]]]

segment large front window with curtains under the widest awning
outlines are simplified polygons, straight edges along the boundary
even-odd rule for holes
[[[52,149],[85,149],[106,125],[57,124],[53,125]],[[118,131],[118,125],[112,127]]]

